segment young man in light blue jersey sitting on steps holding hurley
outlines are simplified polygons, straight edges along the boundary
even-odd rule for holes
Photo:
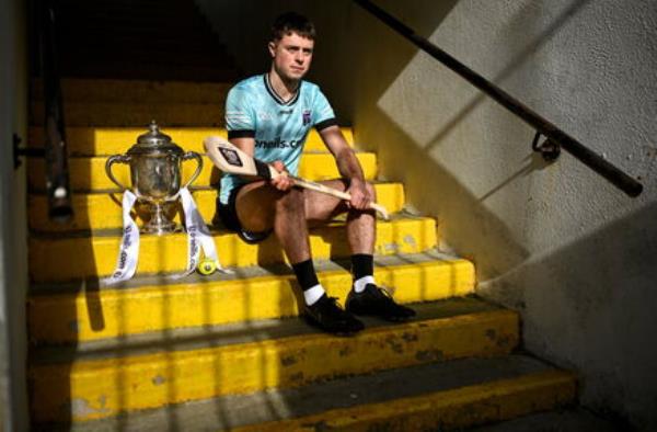
[[[296,175],[306,137],[314,127],[342,175],[322,183],[349,192],[351,201],[293,187],[286,177],[249,181],[224,174],[217,216],[247,242],[262,241],[274,231],[303,289],[304,314],[325,331],[362,330],[362,322],[354,314],[406,320],[415,312],[397,305],[373,278],[377,225],[368,204],[374,201],[374,189],[364,180],[360,163],[345,141],[328,101],[318,86],[302,80],[312,60],[314,26],[306,16],[286,13],[275,21],[272,31],[269,71],[239,82],[228,93],[228,138],[279,172]],[[354,275],[346,310],[319,283],[308,236],[309,225],[328,221],[345,212]]]

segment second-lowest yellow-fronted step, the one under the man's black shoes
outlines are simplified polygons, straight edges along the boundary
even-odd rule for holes
[[[418,318],[403,325],[367,319],[367,330],[353,338],[289,319],[187,336],[162,332],[157,340],[128,338],[110,346],[36,350],[28,373],[33,418],[107,418],[437,361],[506,355],[517,346],[515,312],[464,302],[418,305]]]

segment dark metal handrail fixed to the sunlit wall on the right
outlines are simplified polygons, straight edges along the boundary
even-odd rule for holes
[[[412,29],[407,27],[401,21],[383,11],[381,8],[377,7],[369,0],[354,0],[358,5],[364,8],[366,11],[370,12],[372,15],[378,18],[380,21],[385,23],[389,27],[411,41],[414,45],[419,47],[422,50],[453,70],[456,73],[460,75],[462,78],[468,80],[472,86],[476,87],[488,96],[494,99],[500,105],[509,110],[511,113],[516,114],[518,117],[522,118],[526,123],[532,126],[538,134],[541,134],[548,138],[548,143],[544,145],[545,156],[548,159],[554,159],[558,155],[555,152],[554,147],[558,149],[558,146],[563,147],[564,150],[568,151],[573,155],[577,160],[596,171],[598,174],[602,175],[614,186],[623,191],[630,196],[638,196],[643,191],[643,185],[637,182],[635,179],[621,171],[619,168],[613,166],[612,163],[604,160],[602,157],[597,155],[595,151],[590,150],[588,147],[584,146],[577,139],[573,138],[554,124],[548,122],[545,118],[537,114],[534,111],[529,109],[523,103],[519,102],[517,99],[486,80],[481,75],[476,73],[472,69],[468,68],[465,65],[438,48],[436,45],[427,41],[426,38],[417,35]],[[538,138],[538,136],[537,136]],[[535,139],[534,139],[535,141]],[[541,147],[535,147],[534,149],[542,151]]]

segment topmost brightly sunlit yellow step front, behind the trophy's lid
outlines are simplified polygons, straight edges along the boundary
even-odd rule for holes
[[[100,93],[100,92],[99,92]],[[99,98],[103,98],[99,94]],[[165,98],[164,94],[153,93],[151,99]],[[183,99],[183,95],[180,95]],[[189,95],[192,98],[192,95]],[[354,146],[354,134],[350,127],[342,127],[342,133],[349,146]],[[67,127],[67,149],[70,156],[110,156],[125,154],[139,135],[148,132],[147,125],[141,127]],[[205,152],[203,140],[209,135],[227,138],[226,128],[215,127],[166,127],[161,129],[186,151]],[[30,128],[30,147],[44,147],[44,129]],[[306,140],[304,151],[326,151],[326,147],[315,129],[311,129]]]

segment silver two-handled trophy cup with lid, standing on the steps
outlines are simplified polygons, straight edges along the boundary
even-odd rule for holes
[[[182,187],[187,187],[196,180],[203,169],[203,159],[196,151],[185,152],[175,145],[169,135],[162,134],[155,121],[149,126],[149,132],[140,135],[125,155],[114,155],[107,159],[105,171],[107,177],[122,191],[126,187],[112,174],[115,162],[130,166],[131,191],[138,204],[146,206],[146,212],[138,215],[146,220],[142,232],[163,235],[173,232],[176,224],[171,220],[175,214],[176,202]],[[196,159],[198,167],[192,178],[181,187],[181,172],[184,160]]]

